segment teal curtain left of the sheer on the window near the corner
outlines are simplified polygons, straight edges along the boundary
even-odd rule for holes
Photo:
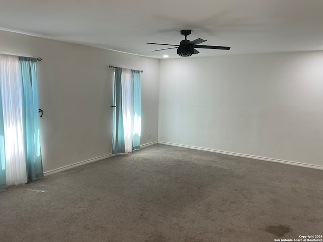
[[[121,90],[122,68],[117,67],[115,70],[115,92],[114,92],[114,134],[112,153],[125,153],[125,138],[123,131],[122,118],[122,90]]]

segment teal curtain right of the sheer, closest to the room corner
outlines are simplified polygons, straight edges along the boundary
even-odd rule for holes
[[[134,105],[134,134],[133,134],[133,149],[140,148],[140,134],[141,134],[141,85],[140,72],[138,70],[131,70],[133,81],[133,105]]]

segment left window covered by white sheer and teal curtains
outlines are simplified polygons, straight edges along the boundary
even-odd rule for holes
[[[0,54],[0,189],[43,176],[36,61]]]

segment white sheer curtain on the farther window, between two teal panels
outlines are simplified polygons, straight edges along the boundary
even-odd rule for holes
[[[125,152],[132,152],[133,143],[133,83],[131,70],[123,68],[121,74],[122,115],[125,136]]]

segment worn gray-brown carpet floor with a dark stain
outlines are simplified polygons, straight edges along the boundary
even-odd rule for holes
[[[158,144],[8,188],[0,193],[0,241],[229,242],[320,235],[322,175]]]

